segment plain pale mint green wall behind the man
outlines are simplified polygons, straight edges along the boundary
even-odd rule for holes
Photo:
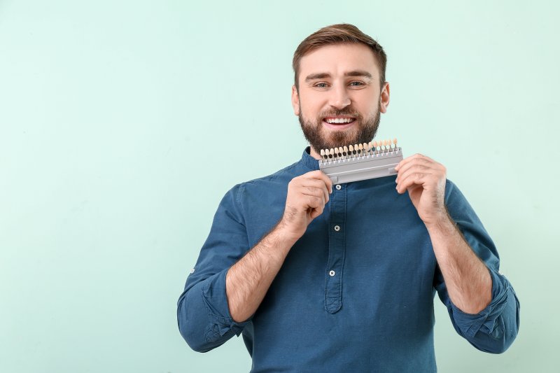
[[[290,62],[350,22],[388,54],[380,138],[442,162],[521,300],[493,356],[436,298],[440,372],[557,372],[554,1],[0,1],[0,371],[248,372],[176,300],[224,193],[299,159]]]

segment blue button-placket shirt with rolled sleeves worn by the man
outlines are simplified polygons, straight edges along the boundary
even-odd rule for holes
[[[449,215],[491,274],[492,301],[479,314],[449,300],[426,226],[388,176],[334,185],[255,314],[233,321],[225,275],[281,218],[289,181],[318,169],[308,151],[223,197],[177,304],[179,330],[192,349],[209,351],[241,334],[253,373],[435,372],[436,291],[470,344],[491,353],[510,346],[519,329],[517,296],[498,273],[489,234],[451,181]]]

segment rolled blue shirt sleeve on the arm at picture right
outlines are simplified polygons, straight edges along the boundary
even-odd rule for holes
[[[449,216],[462,232],[472,251],[489,269],[492,300],[478,314],[465,314],[449,299],[439,267],[434,279],[435,289],[447,307],[451,323],[459,335],[481,351],[503,353],[519,331],[519,300],[510,281],[499,272],[498,251],[475,211],[454,183],[447,181],[445,189],[445,204]]]

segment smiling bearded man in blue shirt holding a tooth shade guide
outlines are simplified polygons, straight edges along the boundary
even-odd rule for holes
[[[195,351],[242,333],[251,372],[435,372],[435,291],[477,349],[513,342],[519,302],[442,164],[417,154],[396,177],[340,185],[318,171],[320,149],[372,140],[385,66],[349,24],[297,48],[292,104],[310,147],[223,197],[178,302]]]

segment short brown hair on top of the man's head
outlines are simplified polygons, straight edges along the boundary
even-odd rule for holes
[[[377,58],[377,64],[379,67],[379,85],[383,87],[385,83],[385,68],[387,66],[387,56],[383,47],[377,43],[371,36],[364,34],[358,27],[353,24],[341,23],[341,24],[331,24],[330,26],[323,27],[313,34],[307,36],[297,45],[297,49],[293,54],[293,71],[295,88],[300,89],[297,82],[297,76],[300,73],[300,61],[304,55],[311,52],[311,50],[316,50],[325,45],[342,44],[342,43],[362,43],[370,47],[373,55]]]

